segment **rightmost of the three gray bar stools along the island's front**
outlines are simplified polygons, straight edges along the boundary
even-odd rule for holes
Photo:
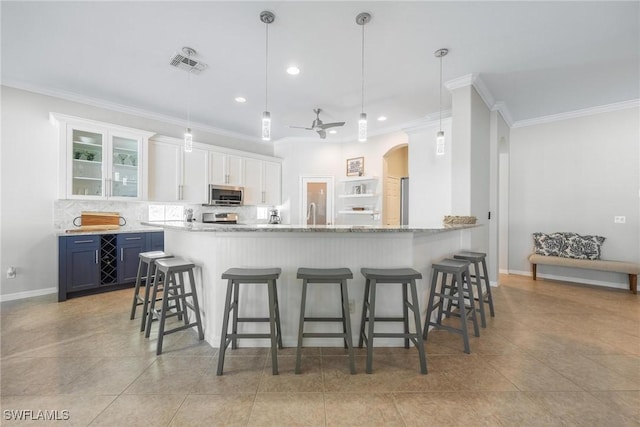
[[[418,348],[420,357],[420,371],[427,373],[427,360],[424,353],[424,342],[420,336],[420,307],[418,304],[418,291],[416,289],[416,279],[422,279],[422,274],[412,268],[362,268],[360,270],[365,277],[364,303],[362,304],[362,317],[360,321],[360,339],[358,347],[362,348],[364,342],[367,343],[367,373],[370,374],[373,366],[373,339],[380,338],[404,338],[404,347],[409,348],[411,340]],[[376,286],[378,283],[396,283],[402,285],[402,317],[376,317]],[[407,288],[411,288],[411,302],[408,298]],[[367,310],[369,316],[367,317]],[[416,325],[415,333],[409,332],[409,310],[413,312]],[[374,333],[375,322],[403,322],[404,332],[402,333]],[[369,322],[365,333],[365,323]]]

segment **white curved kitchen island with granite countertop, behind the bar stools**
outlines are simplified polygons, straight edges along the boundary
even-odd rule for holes
[[[183,222],[149,222],[164,229],[165,251],[198,266],[196,287],[202,310],[205,339],[213,347],[220,343],[226,281],[222,273],[232,267],[280,267],[278,299],[285,346],[295,346],[300,315],[301,281],[299,267],[349,267],[351,322],[354,341],[360,328],[364,295],[362,267],[412,267],[420,271],[418,295],[422,316],[426,313],[431,263],[469,248],[470,234],[476,225],[436,226],[296,226],[296,225],[214,225]],[[243,292],[244,291],[244,292]],[[264,285],[244,286],[240,293],[241,315],[266,317],[267,293]],[[394,285],[382,285],[378,291],[376,314],[401,313],[401,292]],[[307,315],[335,316],[340,312],[337,286],[311,286],[307,293]],[[378,327],[380,329],[378,329]],[[376,324],[376,331],[397,331],[401,324]],[[413,327],[413,326],[411,326]],[[264,332],[266,325],[240,324],[243,332]],[[317,328],[317,329],[316,329]],[[305,325],[305,332],[335,328],[339,324]],[[268,347],[268,340],[245,339],[239,346]],[[340,339],[305,339],[307,346],[341,346]],[[399,339],[376,339],[376,346],[402,345]]]

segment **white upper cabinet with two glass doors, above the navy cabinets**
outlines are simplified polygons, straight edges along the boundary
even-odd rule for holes
[[[60,130],[61,198],[143,200],[152,132],[52,114]]]

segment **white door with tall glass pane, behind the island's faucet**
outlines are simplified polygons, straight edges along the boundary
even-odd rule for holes
[[[301,224],[333,224],[333,187],[332,176],[300,178]]]

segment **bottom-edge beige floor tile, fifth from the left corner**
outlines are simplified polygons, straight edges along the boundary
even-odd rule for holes
[[[326,393],[327,426],[404,426],[392,394]]]

